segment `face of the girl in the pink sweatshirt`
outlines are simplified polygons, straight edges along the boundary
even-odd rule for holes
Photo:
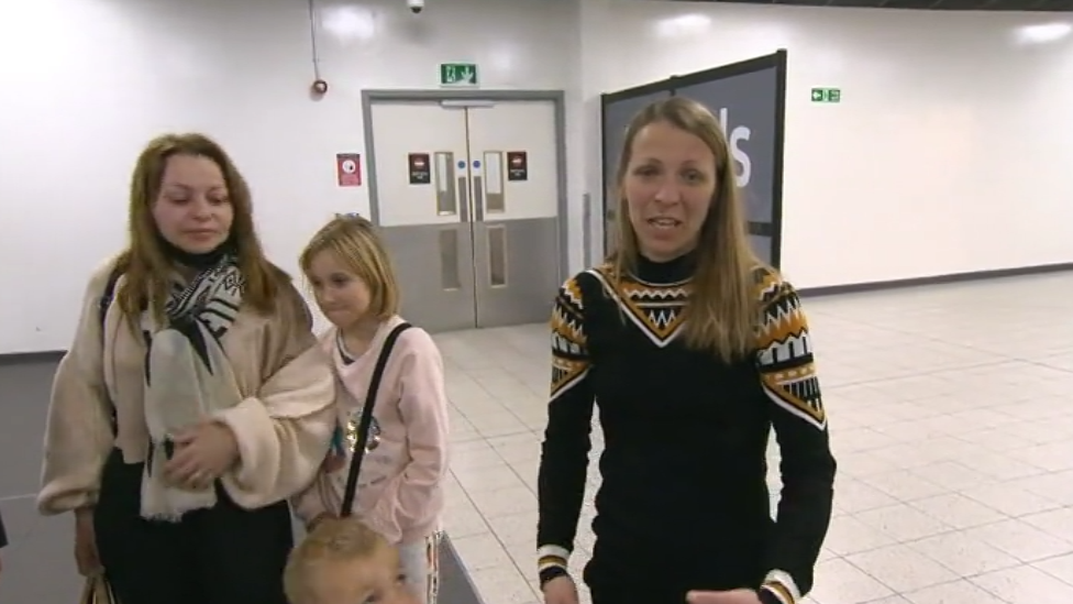
[[[335,327],[346,329],[368,315],[373,298],[368,284],[335,254],[325,251],[313,256],[306,276],[313,287],[317,306]]]

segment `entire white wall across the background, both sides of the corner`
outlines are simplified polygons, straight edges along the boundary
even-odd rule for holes
[[[130,169],[153,135],[224,143],[269,253],[295,271],[332,212],[368,207],[334,182],[336,152],[365,153],[359,91],[434,88],[456,59],[488,88],[567,91],[574,266],[582,195],[600,191],[599,92],[779,47],[783,257],[798,285],[1073,261],[1073,47],[1014,37],[1066,17],[428,2],[414,20],[402,0],[318,0],[320,101],[305,0],[0,3],[0,353],[66,348],[86,274],[123,244]],[[812,86],[843,102],[811,105]]]

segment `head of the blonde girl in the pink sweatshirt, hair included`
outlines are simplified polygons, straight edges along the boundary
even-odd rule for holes
[[[399,311],[399,285],[373,223],[338,216],[317,231],[298,260],[321,312],[340,329],[379,322]]]

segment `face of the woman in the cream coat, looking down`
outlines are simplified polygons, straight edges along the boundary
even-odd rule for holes
[[[198,155],[168,158],[153,220],[172,245],[191,254],[211,252],[231,234],[234,207],[223,171]]]

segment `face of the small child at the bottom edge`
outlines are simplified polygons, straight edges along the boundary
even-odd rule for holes
[[[398,550],[388,545],[367,558],[324,567],[317,585],[323,604],[418,604],[399,570]]]

